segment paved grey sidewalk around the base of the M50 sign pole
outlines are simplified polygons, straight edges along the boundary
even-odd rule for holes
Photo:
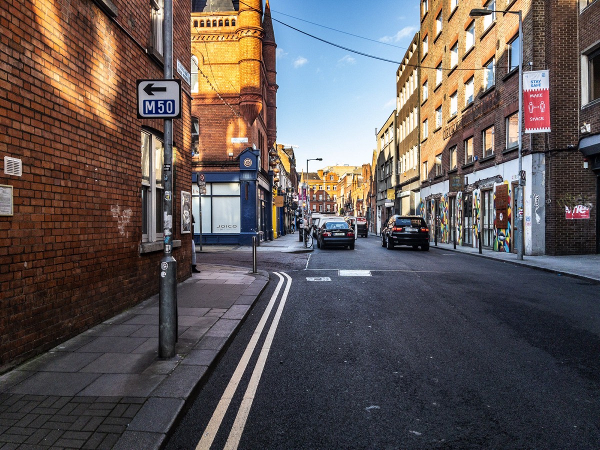
[[[158,295],[0,377],[0,448],[157,449],[269,281],[199,265],[177,287],[176,355]]]

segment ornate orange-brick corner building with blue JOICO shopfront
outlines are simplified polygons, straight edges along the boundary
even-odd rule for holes
[[[194,236],[204,244],[273,238],[276,47],[268,1],[264,14],[262,0],[193,1],[192,181],[206,183],[193,199],[199,215],[202,199]]]

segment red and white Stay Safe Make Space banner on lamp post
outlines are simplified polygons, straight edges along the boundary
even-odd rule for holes
[[[547,70],[523,74],[525,133],[550,132],[550,79]]]

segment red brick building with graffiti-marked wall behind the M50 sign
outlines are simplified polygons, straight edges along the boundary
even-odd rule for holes
[[[136,80],[163,78],[162,4],[0,6],[0,371],[158,292],[164,121],[137,118]],[[188,67],[190,2],[175,0],[173,17],[173,65]],[[182,89],[175,205],[191,176]],[[179,209],[183,280],[191,235]]]

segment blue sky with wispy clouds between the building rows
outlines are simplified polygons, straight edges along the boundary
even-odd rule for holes
[[[298,172],[306,170],[308,158],[323,158],[310,161],[311,172],[371,163],[376,130],[395,109],[398,64],[339,49],[277,20],[347,49],[401,61],[419,28],[419,0],[269,5],[277,41],[277,142],[298,146]]]

